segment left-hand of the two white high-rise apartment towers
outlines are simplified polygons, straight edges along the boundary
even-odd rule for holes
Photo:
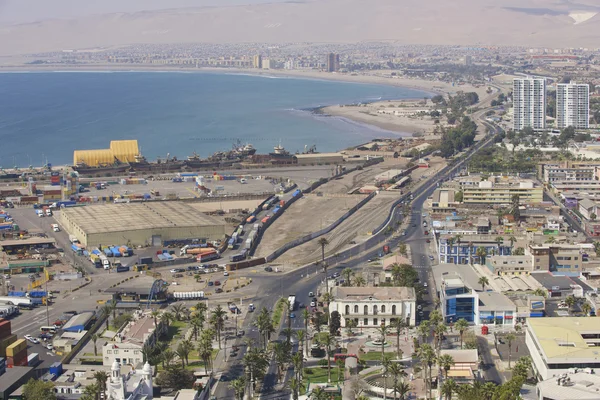
[[[546,80],[517,78],[513,80],[513,129],[546,127]]]

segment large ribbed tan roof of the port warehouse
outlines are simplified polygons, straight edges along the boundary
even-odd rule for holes
[[[174,201],[74,207],[62,212],[86,234],[223,225],[218,218]]]

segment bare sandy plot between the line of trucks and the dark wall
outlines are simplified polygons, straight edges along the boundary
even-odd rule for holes
[[[304,196],[265,231],[255,255],[264,257],[294,239],[331,225],[364,198],[364,195]]]

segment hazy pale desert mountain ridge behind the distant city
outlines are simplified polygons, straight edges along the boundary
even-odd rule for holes
[[[361,42],[599,47],[594,0],[307,0],[0,27],[0,55],[134,43]]]

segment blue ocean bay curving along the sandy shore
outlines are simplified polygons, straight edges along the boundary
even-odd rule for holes
[[[259,153],[316,145],[337,151],[397,133],[310,109],[422,98],[394,86],[286,77],[180,72],[0,74],[0,166],[71,164],[73,150],[137,139],[148,160],[207,157],[236,140]]]

